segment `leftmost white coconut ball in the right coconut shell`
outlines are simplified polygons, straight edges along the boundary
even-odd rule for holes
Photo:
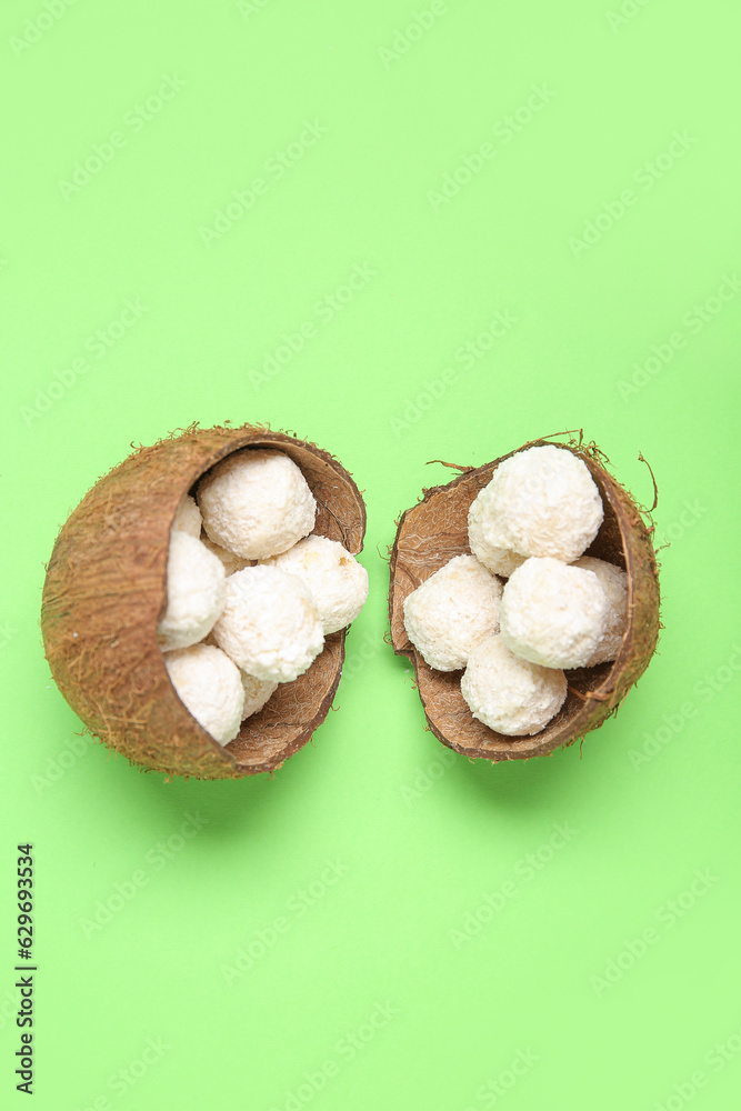
[[[502,584],[473,556],[454,556],[404,599],[404,628],[425,663],[464,668],[471,649],[499,629]]]

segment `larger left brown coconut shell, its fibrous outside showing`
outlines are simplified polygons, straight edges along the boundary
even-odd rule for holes
[[[222,748],[178,698],[157,643],[167,605],[170,527],[183,494],[240,448],[277,448],[317,499],[314,532],[362,548],[366,509],[348,471],[313,443],[267,427],[192,427],[141,447],[100,479],[63,526],[43,587],[41,630],[54,680],[91,733],[134,763],[172,775],[234,779],[273,771],[332,704],[344,630],[294,682],[281,683]]]

